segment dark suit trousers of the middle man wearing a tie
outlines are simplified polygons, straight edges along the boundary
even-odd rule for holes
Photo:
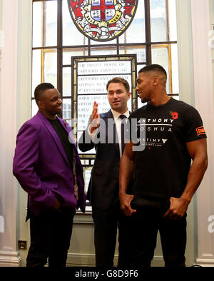
[[[118,267],[129,264],[130,255],[126,248],[126,216],[121,212],[120,204],[111,206],[108,210],[92,207],[94,221],[94,246],[96,252],[96,267],[113,267],[118,229],[119,256]]]

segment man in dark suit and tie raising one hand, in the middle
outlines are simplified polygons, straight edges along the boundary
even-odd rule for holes
[[[113,267],[117,228],[119,230],[118,266],[125,267],[127,258],[125,231],[127,218],[121,213],[118,200],[118,171],[123,153],[123,130],[129,117],[127,101],[131,96],[128,82],[113,78],[107,83],[108,102],[111,110],[98,113],[94,103],[88,128],[83,131],[78,147],[85,152],[96,149],[96,158],[91,170],[87,198],[92,205],[95,224],[94,245],[97,267]],[[122,125],[122,126],[123,126]]]

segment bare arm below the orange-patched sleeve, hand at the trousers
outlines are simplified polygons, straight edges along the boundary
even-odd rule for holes
[[[208,167],[207,142],[205,138],[186,143],[186,147],[193,160],[188,173],[188,181],[180,198],[170,198],[170,208],[165,213],[165,217],[175,220],[183,218],[183,215],[185,215],[188,205]]]

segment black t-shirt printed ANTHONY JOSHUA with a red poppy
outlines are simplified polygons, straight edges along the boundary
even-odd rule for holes
[[[180,197],[188,179],[191,158],[186,143],[206,138],[203,122],[193,106],[170,98],[148,103],[129,117],[127,136],[134,149],[133,195],[148,198]]]

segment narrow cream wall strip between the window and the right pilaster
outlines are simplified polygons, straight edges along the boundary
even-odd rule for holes
[[[177,1],[178,21],[178,66],[180,100],[194,106],[194,78],[193,78],[193,46],[191,29],[190,1]],[[186,265],[195,263],[195,198],[188,207],[187,215],[187,245],[185,251]]]

